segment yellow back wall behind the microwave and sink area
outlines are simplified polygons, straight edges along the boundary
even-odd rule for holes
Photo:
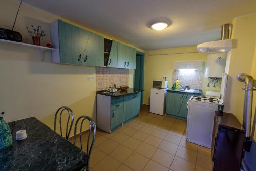
[[[166,55],[167,54],[167,55]],[[163,76],[167,76],[169,87],[172,87],[173,64],[175,61],[193,61],[202,60],[205,62],[209,53],[198,53],[197,46],[187,46],[169,49],[152,50],[146,53],[145,57],[145,73],[144,73],[144,104],[149,103],[150,89],[153,80],[161,80]],[[207,87],[208,78],[203,80],[203,93],[205,91],[220,91],[220,84],[216,84],[216,88]]]

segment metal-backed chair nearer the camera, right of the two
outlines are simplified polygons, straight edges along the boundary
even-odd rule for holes
[[[87,138],[87,148],[86,148],[86,153],[88,155],[88,159],[87,159],[87,166],[86,168],[84,168],[83,170],[87,170],[89,171],[90,170],[90,167],[89,167],[89,159],[90,159],[90,155],[91,155],[91,152],[92,152],[92,148],[93,148],[93,145],[94,145],[94,142],[95,142],[95,137],[96,137],[96,125],[94,123],[94,121],[88,117],[88,116],[80,116],[76,123],[75,123],[75,132],[74,132],[74,145],[76,145],[76,130],[77,130],[77,125],[78,125],[78,122],[81,120],[81,125],[80,125],[80,144],[81,144],[81,149],[83,149],[82,147],[82,125],[83,125],[83,122],[85,120],[88,120],[89,122],[89,134],[88,134],[88,138]],[[93,133],[93,138],[92,138],[92,142],[91,142],[91,145],[89,145],[89,142],[90,142],[90,138],[91,138],[91,132]],[[89,147],[90,146],[90,147]]]

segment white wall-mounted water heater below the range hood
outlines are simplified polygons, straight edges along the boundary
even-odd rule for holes
[[[221,78],[225,73],[227,54],[215,53],[207,56],[205,76],[210,78]]]

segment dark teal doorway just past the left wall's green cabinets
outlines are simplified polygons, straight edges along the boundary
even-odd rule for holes
[[[134,70],[134,88],[144,90],[144,61],[145,54],[137,51],[136,69]],[[140,105],[143,105],[144,91],[141,92]]]

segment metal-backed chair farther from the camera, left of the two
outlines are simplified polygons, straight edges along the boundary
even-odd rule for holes
[[[57,112],[55,113],[55,117],[54,117],[54,131],[56,132],[56,125],[57,125],[57,115],[60,111],[60,115],[59,115],[59,126],[60,126],[60,135],[62,136],[62,126],[61,126],[61,116],[62,116],[62,113],[63,111],[67,111],[68,112],[68,121],[67,121],[67,125],[66,125],[66,136],[65,136],[65,139],[66,140],[69,140],[69,134],[71,132],[71,128],[72,128],[72,125],[73,125],[73,122],[74,122],[74,114],[73,114],[73,111],[68,108],[68,107],[60,107]],[[69,125],[69,120],[70,120],[70,116],[71,116],[71,123]],[[63,137],[63,136],[62,136]]]

